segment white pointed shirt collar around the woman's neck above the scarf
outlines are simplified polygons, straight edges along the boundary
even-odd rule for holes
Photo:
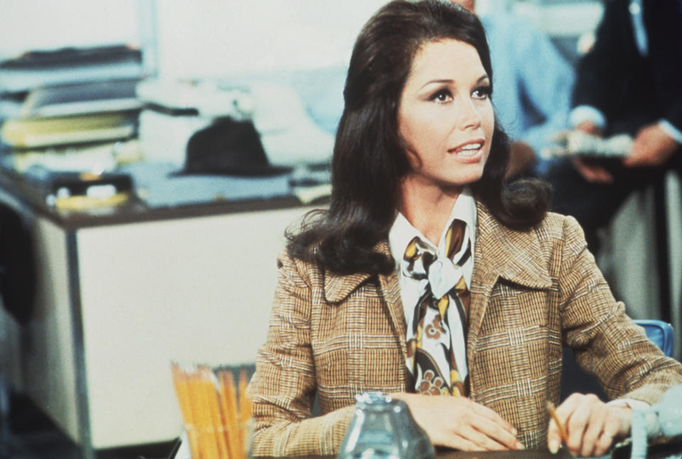
[[[468,187],[465,187],[462,190],[462,193],[460,193],[458,196],[457,200],[455,200],[453,209],[450,211],[448,222],[443,228],[442,234],[440,234],[438,247],[433,247],[433,244],[431,244],[431,242],[429,242],[428,239],[426,239],[426,237],[424,237],[424,235],[421,234],[418,229],[413,227],[407,218],[401,214],[401,212],[398,212],[398,215],[396,215],[396,220],[393,222],[393,226],[391,226],[391,230],[389,231],[389,247],[391,249],[393,259],[396,261],[396,266],[400,266],[400,263],[403,259],[403,254],[407,248],[407,244],[409,244],[410,241],[416,236],[420,237],[423,242],[426,242],[426,244],[435,249],[439,255],[445,254],[445,233],[455,218],[463,220],[469,227],[472,248],[471,256],[473,257],[473,249],[476,243],[476,201],[471,194],[471,190]]]

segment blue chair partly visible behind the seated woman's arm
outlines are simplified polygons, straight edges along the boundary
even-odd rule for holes
[[[658,346],[665,355],[673,353],[673,327],[663,320],[635,320],[640,327],[644,328],[646,336]],[[561,371],[561,400],[573,392],[583,394],[597,394],[600,399],[608,400],[597,378],[583,372],[578,367],[578,362],[573,357],[570,347],[563,348],[563,369]]]

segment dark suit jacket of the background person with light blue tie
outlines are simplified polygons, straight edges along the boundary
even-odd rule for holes
[[[578,63],[573,106],[607,119],[605,134],[635,135],[667,119],[682,131],[682,1],[643,0],[649,54],[634,38],[629,0],[607,0],[594,47]]]

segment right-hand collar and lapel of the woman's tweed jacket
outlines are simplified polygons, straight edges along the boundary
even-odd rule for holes
[[[471,309],[467,335],[470,370],[475,342],[499,279],[532,289],[548,289],[551,277],[541,259],[540,239],[533,229],[521,232],[501,225],[485,205],[477,202],[476,246],[471,282]]]

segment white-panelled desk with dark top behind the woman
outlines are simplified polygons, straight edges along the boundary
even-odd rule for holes
[[[33,220],[37,265],[13,379],[84,458],[178,436],[171,361],[254,361],[283,230],[309,210],[278,198],[60,215],[7,189]]]

